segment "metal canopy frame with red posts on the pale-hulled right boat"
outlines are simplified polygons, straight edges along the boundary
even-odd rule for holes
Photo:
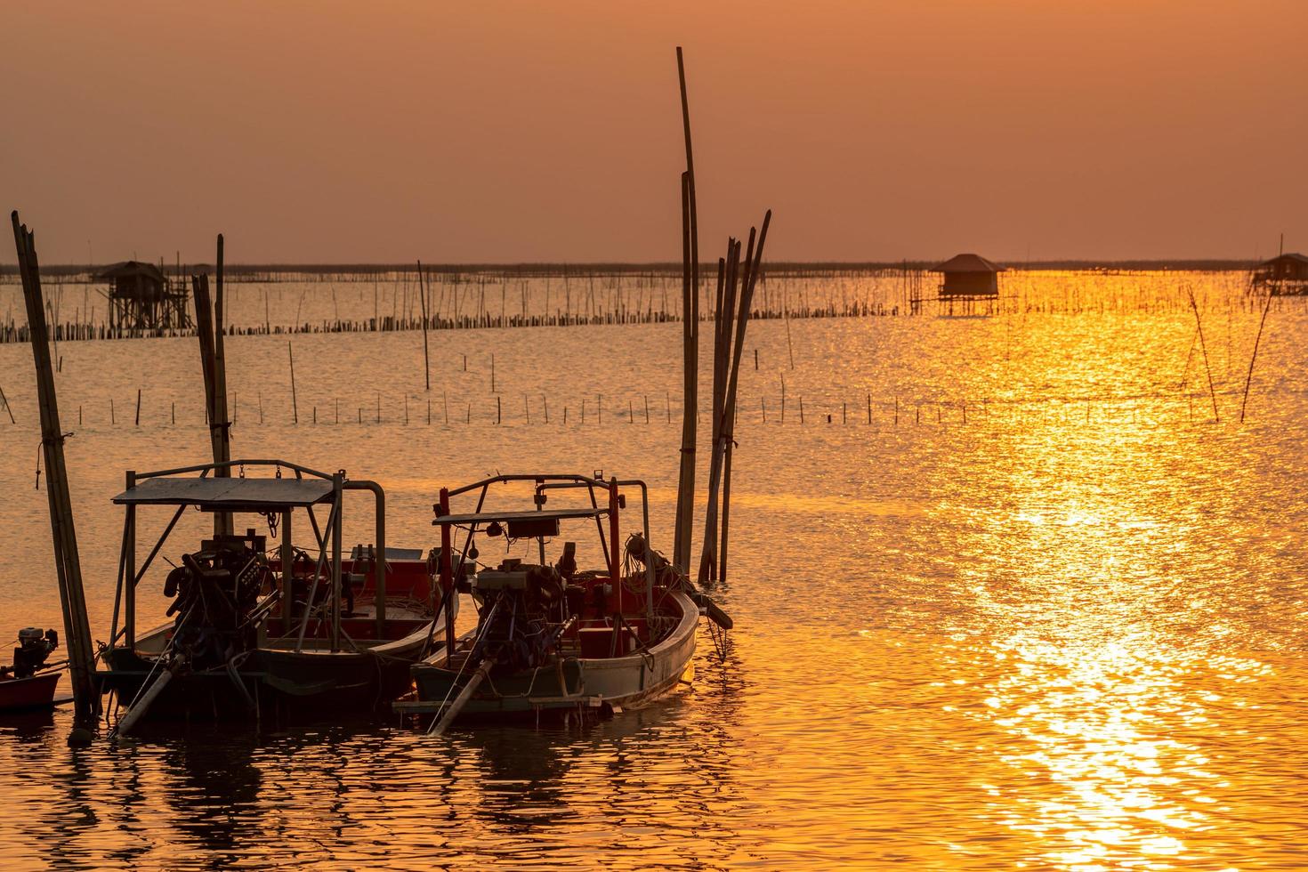
[[[613,584],[615,607],[616,612],[623,611],[623,584],[621,584],[621,548],[619,545],[619,488],[640,488],[641,492],[641,510],[644,519],[644,532],[645,532],[645,609],[649,617],[654,616],[654,549],[650,544],[650,509],[649,509],[649,488],[646,484],[638,478],[619,480],[616,477],[604,481],[603,473],[595,476],[578,476],[578,475],[498,475],[489,478],[483,478],[481,481],[475,481],[470,485],[463,485],[462,488],[441,488],[439,502],[433,506],[436,512],[436,520],[432,523],[441,528],[441,591],[445,597],[445,633],[447,639],[454,639],[454,618],[453,609],[449,608],[450,600],[454,596],[454,562],[453,562],[453,528],[455,526],[466,527],[466,535],[463,539],[463,549],[459,553],[459,566],[464,566],[468,560],[468,552],[472,548],[472,541],[476,537],[477,528],[485,523],[489,524],[492,520],[501,520],[509,518],[536,518],[536,516],[556,516],[559,519],[585,519],[594,518],[595,527],[599,532],[599,541],[604,550],[604,558],[608,563],[610,580]],[[514,482],[530,481],[534,484],[534,502],[535,511],[509,511],[509,512],[483,512],[481,509],[485,505],[487,495],[490,493],[493,485],[508,485]],[[583,489],[590,497],[590,509],[544,509],[544,494],[547,490],[565,490],[565,489]],[[476,509],[468,514],[454,515],[450,512],[450,498],[477,492]],[[598,492],[604,492],[607,498],[607,505],[600,505],[598,498]],[[603,519],[608,518],[608,535],[606,537]],[[545,562],[545,537],[535,536],[540,545],[540,562]],[[454,646],[446,646],[446,656],[454,655]]]

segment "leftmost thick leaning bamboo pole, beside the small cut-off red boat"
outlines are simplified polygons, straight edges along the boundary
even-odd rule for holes
[[[73,685],[75,732],[69,743],[85,741],[86,727],[99,715],[99,693],[94,681],[94,654],[90,622],[86,617],[86,595],[82,590],[81,560],[77,552],[77,529],[73,526],[68,469],[64,465],[64,431],[59,424],[59,401],[50,361],[50,336],[46,327],[41,292],[41,265],[37,260],[35,234],[18,222],[13,212],[13,239],[18,252],[18,272],[27,306],[31,356],[37,369],[37,395],[41,405],[41,447],[46,461],[46,495],[50,503],[50,532],[54,540],[55,574],[59,580],[59,603],[64,616],[64,641],[68,646],[68,671]]]

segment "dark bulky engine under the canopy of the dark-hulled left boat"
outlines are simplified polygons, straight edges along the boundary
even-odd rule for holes
[[[268,571],[263,536],[218,536],[182,557],[167,575],[164,595],[174,597],[173,647],[196,669],[228,663],[255,646],[251,620]]]

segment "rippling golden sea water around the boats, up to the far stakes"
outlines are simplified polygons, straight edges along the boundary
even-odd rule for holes
[[[704,633],[693,688],[590,727],[442,739],[196,728],[72,752],[67,713],[10,720],[0,863],[1308,864],[1308,315],[1273,309],[1240,425],[1258,315],[1222,302],[1239,277],[1186,280],[1202,344],[1184,307],[1093,305],[1142,281],[1175,298],[1176,277],[1031,281],[1086,311],[749,327],[719,591],[736,630],[725,659]],[[326,288],[297,293],[330,306]],[[420,333],[297,336],[298,425],[286,340],[235,339],[234,454],[382,481],[390,541],[415,548],[442,484],[640,476],[670,550],[679,329],[436,333],[430,392]],[[105,638],[109,498],[124,469],[204,460],[199,358],[194,340],[60,353]],[[8,634],[60,622],[26,346],[0,346],[0,387],[17,418],[0,414]]]

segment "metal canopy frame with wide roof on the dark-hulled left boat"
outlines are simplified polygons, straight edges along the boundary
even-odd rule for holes
[[[233,468],[241,469],[241,477],[211,477],[211,473],[220,471],[230,472]],[[245,471],[275,468],[277,477],[246,478]],[[281,472],[292,473],[289,478],[281,478]],[[203,482],[203,484],[199,484]],[[243,484],[242,484],[243,482]],[[285,484],[273,484],[285,482]],[[160,469],[154,472],[128,471],[126,473],[127,489],[114,497],[112,502],[124,506],[123,543],[118,562],[118,587],[114,594],[114,622],[110,630],[109,647],[114,647],[119,638],[128,648],[136,647],[136,586],[145,577],[154,558],[158,556],[171,535],[177,522],[187,507],[196,507],[203,511],[242,512],[259,515],[281,515],[281,579],[279,595],[289,595],[290,574],[293,573],[294,549],[292,545],[292,514],[296,509],[303,509],[313,528],[313,537],[318,545],[318,563],[314,571],[314,580],[305,607],[305,617],[301,622],[296,650],[303,646],[305,630],[309,616],[314,608],[318,594],[318,579],[322,575],[324,563],[328,563],[328,546],[331,549],[331,650],[340,650],[340,582],[341,582],[341,535],[344,514],[345,490],[369,490],[375,501],[375,539],[377,560],[374,565],[374,591],[377,604],[377,638],[385,638],[386,625],[386,574],[390,567],[386,562],[386,493],[374,481],[349,481],[345,471],[334,473],[319,472],[310,467],[289,463],[286,460],[245,459],[224,463],[204,463],[175,469]],[[136,566],[136,510],[139,506],[177,506],[171,520],[150,548],[145,562]],[[330,506],[326,529],[318,524],[314,506]],[[123,625],[119,626],[119,613],[122,608]],[[289,617],[289,616],[288,616]]]

